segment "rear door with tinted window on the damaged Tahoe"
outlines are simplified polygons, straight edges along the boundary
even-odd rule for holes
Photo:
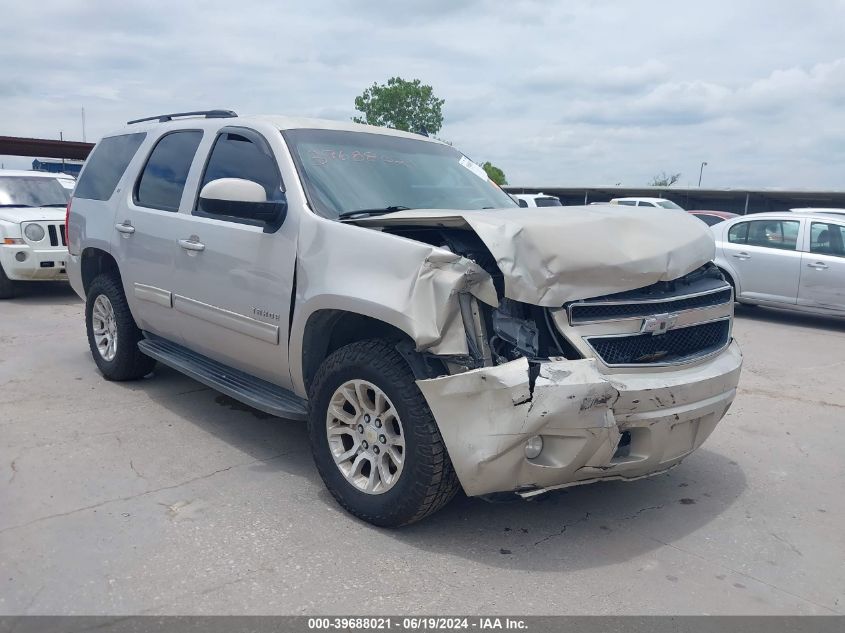
[[[180,341],[173,304],[179,248],[179,207],[201,130],[175,130],[154,141],[132,190],[115,216],[112,253],[120,263],[127,300],[138,325]]]

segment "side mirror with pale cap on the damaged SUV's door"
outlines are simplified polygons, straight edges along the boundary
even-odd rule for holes
[[[264,232],[272,233],[285,221],[288,203],[267,200],[264,187],[243,178],[218,178],[200,191],[199,210],[214,215],[255,220],[265,224]]]

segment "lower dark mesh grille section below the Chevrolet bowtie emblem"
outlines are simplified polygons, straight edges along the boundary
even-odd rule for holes
[[[587,343],[607,365],[682,363],[707,356],[730,342],[730,318],[669,330],[665,334],[641,333],[594,336]]]

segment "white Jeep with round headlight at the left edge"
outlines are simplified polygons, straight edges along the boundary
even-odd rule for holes
[[[19,281],[67,279],[69,196],[56,174],[0,170],[0,299]]]

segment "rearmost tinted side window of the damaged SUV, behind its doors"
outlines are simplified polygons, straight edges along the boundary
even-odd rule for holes
[[[135,152],[144,142],[145,132],[104,138],[97,144],[76,183],[75,198],[108,200]]]

